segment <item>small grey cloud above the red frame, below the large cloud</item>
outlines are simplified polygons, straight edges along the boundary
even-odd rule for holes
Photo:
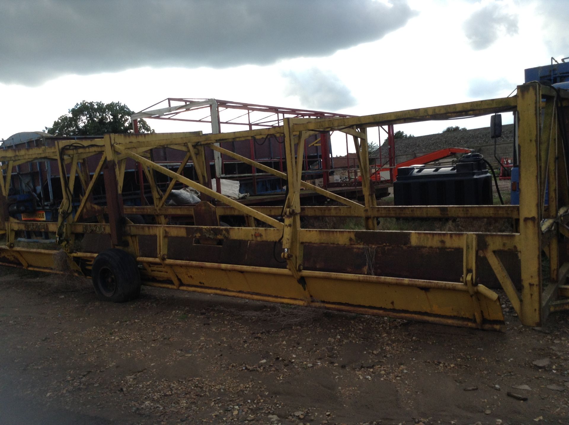
[[[285,96],[298,96],[306,108],[336,112],[357,104],[350,89],[332,72],[310,68],[283,76],[287,79]]]

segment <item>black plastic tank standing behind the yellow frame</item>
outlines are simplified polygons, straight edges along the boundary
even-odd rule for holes
[[[401,167],[393,184],[395,205],[492,205],[492,176],[480,154],[455,166]]]

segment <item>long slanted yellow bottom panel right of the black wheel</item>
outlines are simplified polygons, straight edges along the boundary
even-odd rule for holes
[[[138,261],[159,263],[154,258]],[[287,270],[176,260],[164,263],[178,275],[182,290],[478,327],[471,296],[461,283],[303,271],[305,291]],[[164,285],[152,279],[152,274],[143,273],[145,282]],[[475,297],[484,311],[481,327],[501,329],[504,316],[497,295],[479,285]]]

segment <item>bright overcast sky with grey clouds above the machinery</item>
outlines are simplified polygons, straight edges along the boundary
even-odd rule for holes
[[[569,0],[2,0],[0,138],[81,100],[370,114],[507,96],[523,69],[569,56],[567,22]]]

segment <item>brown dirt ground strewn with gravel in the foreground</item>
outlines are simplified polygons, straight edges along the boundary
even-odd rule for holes
[[[0,423],[567,424],[568,317],[510,308],[481,332],[146,287],[111,304],[2,268]]]

